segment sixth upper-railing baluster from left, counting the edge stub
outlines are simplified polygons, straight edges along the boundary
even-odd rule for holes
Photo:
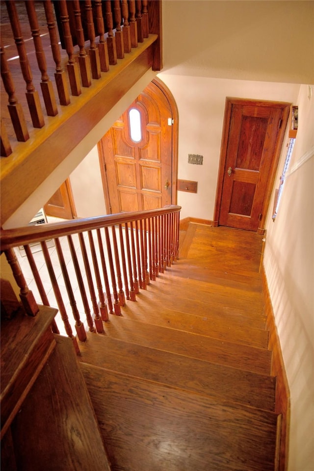
[[[78,64],[74,58],[73,41],[70,31],[69,15],[66,0],[59,0],[58,5],[60,8],[60,20],[64,36],[65,49],[69,59],[67,63],[67,70],[70,80],[71,93],[75,97],[78,97],[82,93],[82,91],[79,81]]]

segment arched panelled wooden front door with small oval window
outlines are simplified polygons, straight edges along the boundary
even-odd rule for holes
[[[178,116],[154,79],[98,143],[108,214],[176,204]]]

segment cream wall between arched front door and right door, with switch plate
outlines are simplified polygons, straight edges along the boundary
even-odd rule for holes
[[[219,78],[158,77],[171,90],[179,111],[178,178],[198,182],[196,194],[178,191],[181,217],[213,219],[226,97],[295,103],[299,85]],[[187,163],[200,154],[203,165]]]

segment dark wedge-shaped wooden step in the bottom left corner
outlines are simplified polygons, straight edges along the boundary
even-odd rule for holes
[[[110,470],[72,340],[56,347],[12,423],[22,471]]]

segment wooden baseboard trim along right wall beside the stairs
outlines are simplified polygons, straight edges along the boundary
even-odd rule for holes
[[[290,392],[280,340],[276,327],[275,315],[263,266],[261,272],[266,315],[266,328],[269,331],[268,350],[272,351],[271,375],[276,376],[275,412],[282,415],[278,471],[287,471],[290,427]]]

